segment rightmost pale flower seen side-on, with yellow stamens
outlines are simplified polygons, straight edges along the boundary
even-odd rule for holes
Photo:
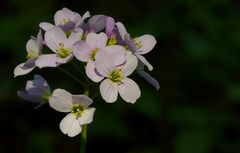
[[[131,50],[150,71],[153,70],[152,65],[142,55],[150,52],[154,48],[157,43],[156,39],[149,34],[132,39],[121,22],[117,22],[116,26],[121,36],[119,41],[123,41],[127,48]]]

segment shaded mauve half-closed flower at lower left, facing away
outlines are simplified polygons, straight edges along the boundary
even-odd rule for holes
[[[40,103],[40,106],[48,101],[48,98],[51,96],[51,90],[43,77],[34,75],[33,80],[27,81],[26,92],[18,91],[18,96],[33,103]]]

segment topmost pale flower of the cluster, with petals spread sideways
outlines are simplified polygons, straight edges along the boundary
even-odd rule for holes
[[[82,17],[80,14],[73,12],[67,8],[63,8],[62,10],[58,10],[54,15],[55,25],[47,22],[41,22],[39,26],[45,30],[51,30],[55,26],[60,27],[67,36],[71,34],[71,32],[79,28],[83,21],[90,17],[89,12],[86,12]]]

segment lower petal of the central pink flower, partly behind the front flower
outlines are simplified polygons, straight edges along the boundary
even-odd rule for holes
[[[95,67],[94,62],[89,61],[86,66],[86,74],[87,76],[94,82],[100,82],[104,78],[102,75],[100,75]]]

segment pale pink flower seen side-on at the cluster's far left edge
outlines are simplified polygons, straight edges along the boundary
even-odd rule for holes
[[[42,54],[42,47],[43,37],[41,30],[39,30],[37,38],[32,37],[30,40],[28,40],[26,45],[28,60],[25,63],[19,64],[14,69],[14,77],[28,74],[36,67],[35,61]]]

